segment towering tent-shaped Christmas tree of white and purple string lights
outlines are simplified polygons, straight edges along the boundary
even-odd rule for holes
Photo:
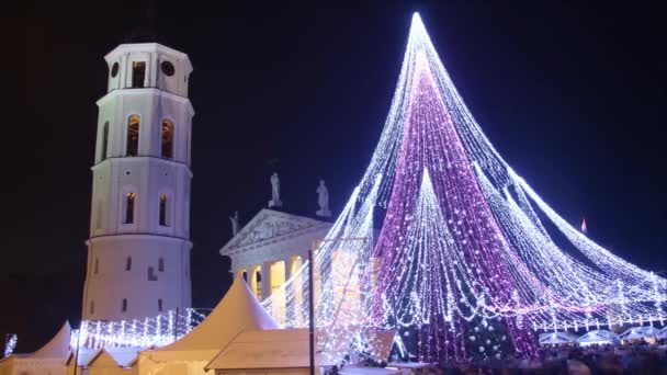
[[[308,266],[262,303],[285,306],[285,327],[306,326]],[[569,225],[496,151],[417,13],[377,147],[314,266],[318,338],[335,361],[370,328],[442,362],[534,356],[539,330],[667,320],[667,280]]]

